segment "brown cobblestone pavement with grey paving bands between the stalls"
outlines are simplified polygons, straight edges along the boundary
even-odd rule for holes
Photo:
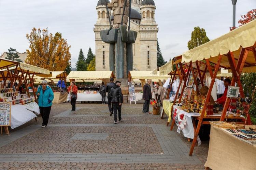
[[[208,142],[188,156],[191,142],[167,127],[167,116],[122,106],[113,123],[108,106],[54,104],[45,129],[41,117],[0,136],[0,169],[204,169]]]

